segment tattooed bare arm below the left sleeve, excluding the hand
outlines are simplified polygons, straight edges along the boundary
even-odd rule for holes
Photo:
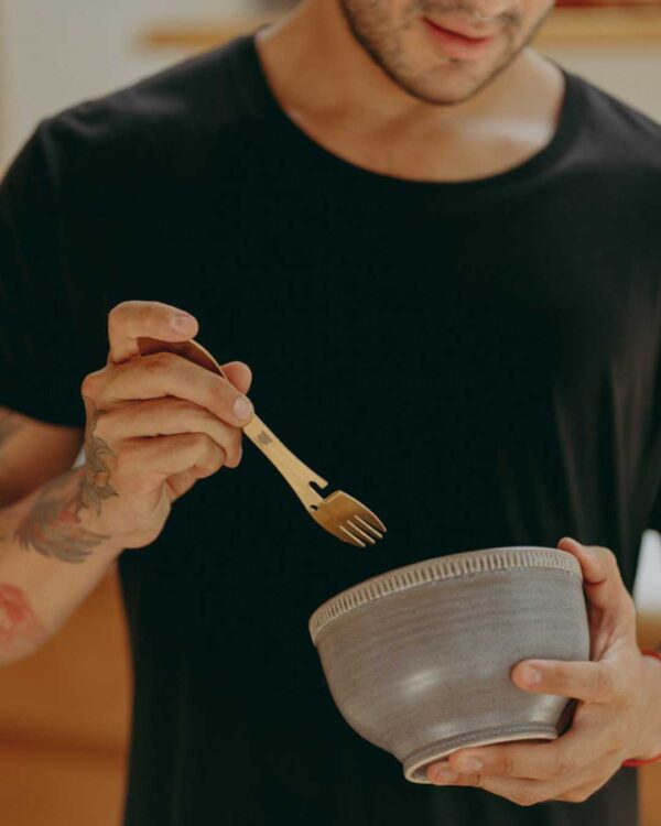
[[[85,526],[82,441],[0,409],[0,665],[52,637],[121,552]]]

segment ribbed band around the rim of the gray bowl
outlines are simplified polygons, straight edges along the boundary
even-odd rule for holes
[[[456,579],[473,574],[485,574],[512,568],[555,568],[573,574],[583,580],[581,564],[564,551],[548,547],[506,547],[487,551],[467,551],[451,556],[407,565],[367,579],[319,606],[310,618],[308,630],[313,643],[326,626],[366,602],[389,594],[414,588],[425,583]]]

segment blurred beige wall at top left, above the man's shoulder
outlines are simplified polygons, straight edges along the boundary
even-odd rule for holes
[[[252,0],[0,0],[0,169],[40,118],[182,56],[141,48],[145,26],[251,8]]]

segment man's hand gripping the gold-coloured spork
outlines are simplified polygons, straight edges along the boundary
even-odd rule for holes
[[[160,302],[118,304],[108,316],[108,362],[83,381],[86,469],[76,512],[122,547],[149,545],[197,479],[236,468],[240,427],[252,419],[247,365],[224,365],[226,381],[182,356],[140,355],[142,337],[194,338],[197,322],[188,314],[173,325],[182,313]]]

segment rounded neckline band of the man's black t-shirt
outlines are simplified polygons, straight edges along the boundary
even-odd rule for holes
[[[467,181],[420,181],[388,175],[368,170],[332,152],[301,129],[289,117],[271,89],[257,47],[257,31],[245,35],[241,39],[240,45],[242,46],[245,57],[243,65],[251,74],[251,80],[253,81],[252,89],[258,93],[262,111],[278,122],[280,129],[283,130],[283,137],[296,142],[299,150],[314,155],[315,160],[319,163],[333,167],[332,171],[334,173],[345,173],[355,176],[356,183],[362,180],[366,183],[371,182],[375,185],[399,186],[411,191],[446,192],[455,195],[462,193],[472,193],[475,195],[480,192],[487,194],[487,192],[491,193],[495,189],[500,191],[501,187],[508,187],[514,183],[523,183],[525,180],[535,177],[539,173],[552,166],[564,154],[565,150],[572,145],[579,123],[578,112],[581,110],[582,87],[578,78],[552,61],[565,80],[557,128],[551,140],[525,161],[495,175]]]

